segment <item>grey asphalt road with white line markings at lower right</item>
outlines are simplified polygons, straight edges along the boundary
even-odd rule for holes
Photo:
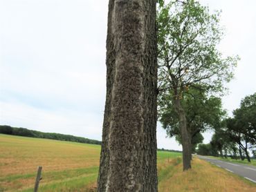
[[[205,157],[201,155],[196,155],[196,156],[199,157],[201,160],[206,160],[211,164],[215,164],[216,166],[226,169],[231,173],[235,173],[237,175],[240,175],[241,177],[246,178],[246,180],[250,180],[251,182],[256,183],[256,166],[250,166],[246,164],[235,164],[231,162],[215,160],[210,157]]]

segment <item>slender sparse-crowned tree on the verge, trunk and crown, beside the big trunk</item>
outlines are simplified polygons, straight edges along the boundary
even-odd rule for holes
[[[182,104],[185,94],[191,88],[223,92],[223,81],[232,78],[238,58],[223,59],[217,50],[223,35],[219,12],[210,14],[198,1],[171,1],[158,10],[157,25],[159,100],[172,99],[179,119],[183,170],[188,170],[191,140]]]

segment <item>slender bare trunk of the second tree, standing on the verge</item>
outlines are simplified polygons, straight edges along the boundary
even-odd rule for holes
[[[179,115],[179,126],[181,129],[181,144],[183,151],[183,171],[191,169],[191,146],[190,135],[187,128],[187,119],[181,106],[181,100],[176,98],[174,101],[176,112]]]

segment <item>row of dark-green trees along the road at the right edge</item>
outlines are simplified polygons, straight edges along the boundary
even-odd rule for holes
[[[233,117],[224,119],[215,130],[210,144],[199,145],[198,153],[244,160],[250,162],[251,151],[256,152],[256,93],[241,100],[240,107],[233,111]]]

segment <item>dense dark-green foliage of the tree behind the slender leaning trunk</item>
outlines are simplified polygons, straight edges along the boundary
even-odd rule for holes
[[[226,115],[226,112],[222,109],[219,97],[208,97],[201,90],[194,88],[190,88],[183,94],[181,105],[187,118],[191,154],[195,151],[196,145],[203,142],[201,133],[210,128],[219,128],[221,119]],[[158,102],[158,106],[161,107],[161,111],[158,113],[159,120],[167,135],[176,137],[176,140],[181,144],[179,115],[176,113],[173,100],[168,97],[162,98]]]

